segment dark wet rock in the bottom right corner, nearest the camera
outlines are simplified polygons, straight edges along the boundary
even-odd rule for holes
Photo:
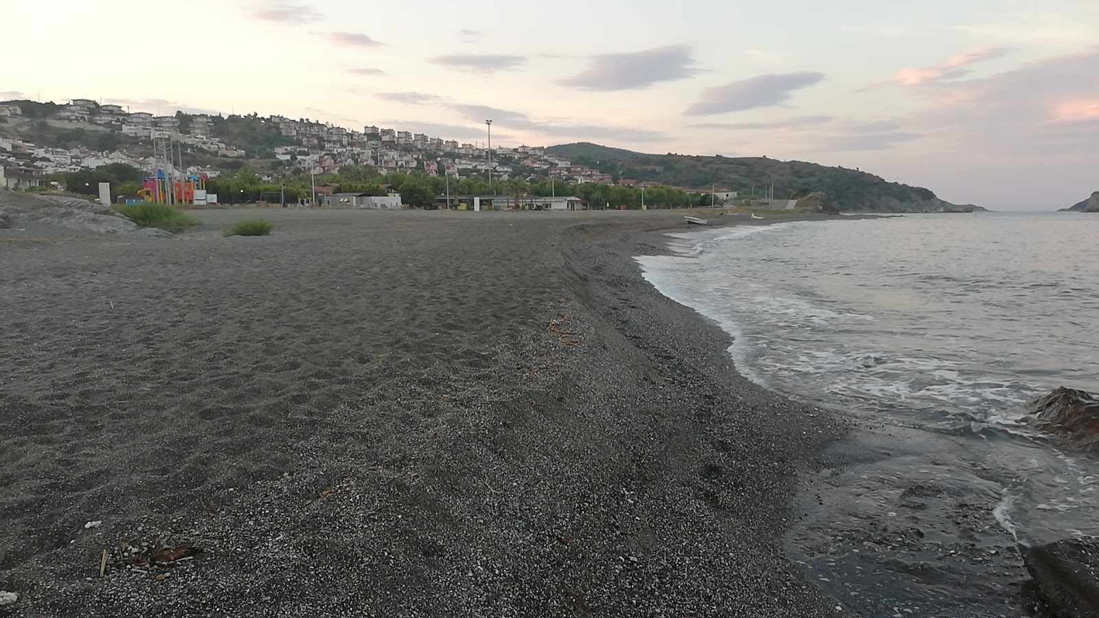
[[[1062,540],[1022,553],[1039,596],[1054,616],[1099,616],[1099,540]]]

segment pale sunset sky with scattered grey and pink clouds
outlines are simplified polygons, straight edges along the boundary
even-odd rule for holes
[[[1099,190],[1096,0],[37,0],[0,100],[856,167],[996,210]],[[43,19],[43,15],[54,15]]]

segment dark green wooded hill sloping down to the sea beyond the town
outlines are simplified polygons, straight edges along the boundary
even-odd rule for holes
[[[933,191],[890,183],[857,169],[828,167],[801,161],[767,157],[693,156],[645,154],[580,142],[546,148],[547,153],[588,165],[623,178],[654,180],[673,187],[739,191],[763,196],[775,184],[776,199],[809,190],[823,191],[842,210],[872,212],[969,212],[979,206],[955,205],[939,199]]]

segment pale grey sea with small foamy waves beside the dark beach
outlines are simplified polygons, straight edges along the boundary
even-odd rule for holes
[[[673,236],[675,255],[637,258],[644,276],[732,334],[742,375],[972,444],[981,489],[1001,496],[992,515],[1024,544],[1099,536],[1099,462],[1022,421],[1029,399],[1058,386],[1099,393],[1099,216],[913,214]]]

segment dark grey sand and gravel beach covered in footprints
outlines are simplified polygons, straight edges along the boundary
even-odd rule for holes
[[[0,616],[847,615],[844,426],[641,278],[680,214],[198,214],[0,239]]]

